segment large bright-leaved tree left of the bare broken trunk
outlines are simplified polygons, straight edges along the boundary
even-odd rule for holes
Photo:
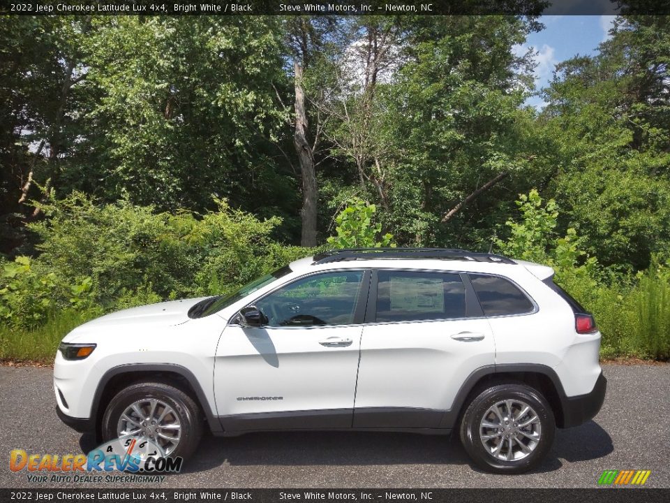
[[[96,17],[94,26],[81,188],[163,210],[202,210],[214,195],[290,211],[294,180],[274,160],[283,124],[274,84],[285,78],[275,18]]]

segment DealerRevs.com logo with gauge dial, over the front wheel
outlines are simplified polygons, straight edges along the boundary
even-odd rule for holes
[[[27,474],[29,482],[162,482],[181,470],[181,457],[166,456],[146,439],[114,439],[84,454],[10,453],[9,469]],[[119,474],[118,472],[124,472]]]

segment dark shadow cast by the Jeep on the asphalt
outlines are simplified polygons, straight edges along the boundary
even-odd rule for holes
[[[535,473],[613,451],[609,434],[593,421],[557,430],[553,448]],[[267,432],[240,437],[207,435],[183,472],[230,465],[470,465],[457,435],[435,437],[382,432]],[[473,469],[479,471],[478,469]]]

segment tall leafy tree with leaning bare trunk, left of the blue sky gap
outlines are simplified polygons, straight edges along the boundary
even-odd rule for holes
[[[412,20],[375,129],[393,145],[384,224],[399,242],[487,247],[511,209],[500,182],[526,189],[537,174],[532,116],[519,109],[531,61],[512,52],[535,29],[507,16]]]

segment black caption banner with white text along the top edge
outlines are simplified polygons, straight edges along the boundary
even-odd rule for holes
[[[670,0],[8,0],[8,15],[670,14]]]

